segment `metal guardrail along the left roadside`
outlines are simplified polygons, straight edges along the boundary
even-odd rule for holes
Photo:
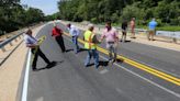
[[[1,42],[1,43],[0,43],[0,48],[2,49],[2,52],[5,50],[5,49],[4,49],[4,46],[5,46],[7,44],[12,45],[11,42],[14,41],[14,40],[16,40],[16,37],[21,36],[23,33],[24,33],[24,32],[21,32],[20,34],[18,34],[18,35],[15,35],[15,36],[13,36],[13,37],[10,37],[10,38],[8,38],[8,40]]]

